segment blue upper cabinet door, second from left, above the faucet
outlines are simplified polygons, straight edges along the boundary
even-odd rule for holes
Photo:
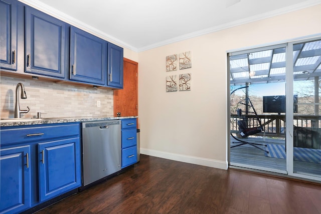
[[[26,6],[25,72],[65,78],[66,23]]]

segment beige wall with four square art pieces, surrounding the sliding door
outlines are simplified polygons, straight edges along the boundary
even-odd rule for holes
[[[321,33],[321,5],[139,53],[141,153],[227,167],[228,50]],[[166,56],[192,52],[192,68],[166,72]],[[191,73],[192,90],[166,92],[168,75]]]

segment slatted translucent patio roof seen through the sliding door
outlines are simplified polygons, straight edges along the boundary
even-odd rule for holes
[[[295,80],[321,76],[321,40],[293,45]],[[284,82],[285,48],[230,56],[230,84]]]

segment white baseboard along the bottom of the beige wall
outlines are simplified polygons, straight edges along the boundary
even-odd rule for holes
[[[195,156],[188,156],[182,154],[175,154],[170,152],[157,151],[152,149],[140,148],[140,154],[146,154],[154,157],[161,157],[169,160],[176,160],[185,163],[193,163],[202,166],[209,166],[219,169],[227,169],[228,163],[220,160],[207,159]]]

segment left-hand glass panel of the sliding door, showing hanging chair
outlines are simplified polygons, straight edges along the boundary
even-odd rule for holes
[[[285,45],[230,54],[230,165],[286,173],[285,56]]]

